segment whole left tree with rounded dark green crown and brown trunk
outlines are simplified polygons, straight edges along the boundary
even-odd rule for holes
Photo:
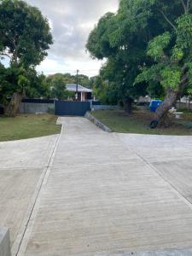
[[[9,72],[18,75],[9,90],[13,94],[8,115],[15,116],[26,87],[32,86],[29,70],[44,60],[52,43],[49,22],[40,10],[24,1],[0,0],[0,56],[9,59]]]

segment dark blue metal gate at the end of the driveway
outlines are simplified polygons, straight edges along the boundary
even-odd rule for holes
[[[84,116],[90,111],[90,102],[55,101],[55,115]]]

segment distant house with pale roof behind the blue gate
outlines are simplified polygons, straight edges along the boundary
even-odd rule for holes
[[[68,91],[76,93],[77,84],[66,84],[66,89]],[[93,90],[90,90],[80,84],[78,84],[78,99],[81,102],[91,100]]]

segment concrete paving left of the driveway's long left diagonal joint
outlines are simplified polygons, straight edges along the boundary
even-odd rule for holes
[[[0,226],[15,253],[38,197],[58,135],[0,143]]]

